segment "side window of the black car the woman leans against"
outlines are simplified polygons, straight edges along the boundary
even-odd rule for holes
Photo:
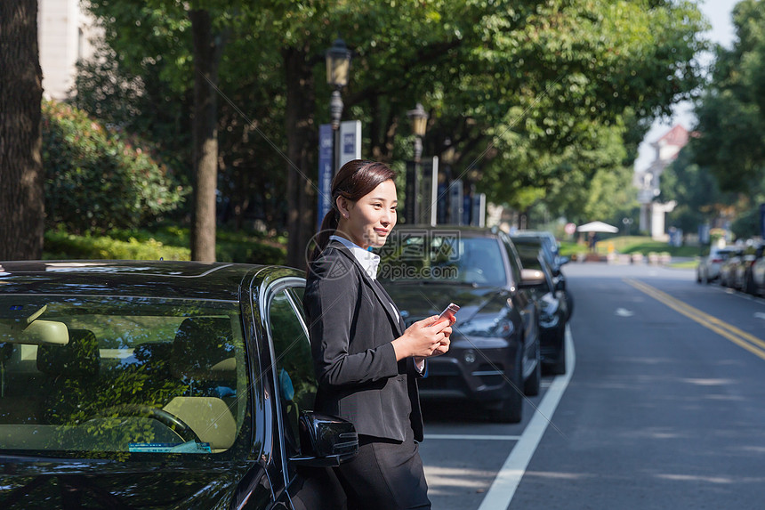
[[[313,409],[317,383],[310,342],[288,292],[274,295],[269,305],[269,328],[276,358],[276,378],[282,418],[286,425],[288,455],[300,451],[298,419]]]

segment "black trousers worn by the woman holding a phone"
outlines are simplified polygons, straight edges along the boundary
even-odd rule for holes
[[[404,442],[358,436],[358,455],[336,468],[349,510],[431,508],[419,445],[409,430]]]

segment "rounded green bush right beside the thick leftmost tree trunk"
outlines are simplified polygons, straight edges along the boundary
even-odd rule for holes
[[[134,228],[181,203],[183,188],[146,144],[66,104],[44,101],[42,108],[48,228]]]

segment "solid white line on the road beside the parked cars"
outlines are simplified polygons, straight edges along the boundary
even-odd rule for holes
[[[542,440],[547,425],[550,425],[552,415],[558,407],[560,398],[566,391],[568,381],[574,373],[576,353],[571,331],[566,327],[566,374],[556,376],[550,385],[550,389],[544,393],[534,416],[528,422],[526,429],[520,436],[518,444],[513,447],[510,455],[504,461],[504,465],[496,474],[494,482],[489,487],[486,497],[483,498],[479,510],[500,510],[510,505],[515,490],[518,489],[520,479],[526,473],[526,468],[534,456],[539,441]],[[548,419],[549,418],[549,419]]]

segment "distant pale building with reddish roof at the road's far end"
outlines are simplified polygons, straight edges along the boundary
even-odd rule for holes
[[[664,231],[664,218],[676,206],[674,201],[666,204],[655,201],[659,195],[661,174],[688,143],[689,135],[682,125],[672,127],[664,136],[651,143],[651,147],[656,150],[654,162],[646,170],[635,172],[634,184],[640,202],[640,231],[650,231],[651,238],[656,240],[668,239]]]

